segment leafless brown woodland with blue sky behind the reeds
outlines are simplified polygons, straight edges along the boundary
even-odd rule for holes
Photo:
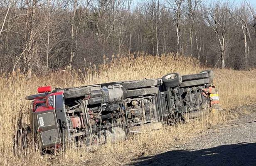
[[[200,64],[256,66],[251,0],[1,0],[0,73],[82,68],[174,52]]]

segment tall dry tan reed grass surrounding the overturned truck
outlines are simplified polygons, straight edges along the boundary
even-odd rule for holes
[[[166,73],[197,73],[204,70],[198,61],[192,58],[174,56],[173,54],[156,56],[136,55],[130,57],[113,57],[98,66],[90,65],[79,71],[60,71],[48,76],[33,75],[26,80],[26,75],[19,71],[3,74],[0,78],[0,165],[41,166],[41,165],[124,165],[138,156],[154,154],[157,151],[180,142],[185,142],[204,129],[229,119],[229,114],[208,116],[202,120],[189,122],[187,125],[165,127],[165,129],[137,134],[119,144],[106,144],[88,151],[86,148],[69,149],[66,153],[41,156],[34,148],[30,137],[21,140],[18,132],[19,124],[26,127],[30,102],[22,100],[26,95],[36,93],[36,88],[43,85],[66,87],[89,85],[120,80],[143,78],[161,78]],[[255,100],[256,71],[214,70],[216,87],[220,90],[222,107],[230,109]],[[19,131],[22,131],[20,129]],[[14,142],[15,149],[13,149]],[[25,149],[20,142],[28,142]]]

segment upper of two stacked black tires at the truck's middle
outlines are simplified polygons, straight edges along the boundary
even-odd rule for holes
[[[156,85],[158,85],[158,80],[140,80],[123,83],[123,87],[126,89],[144,88]]]

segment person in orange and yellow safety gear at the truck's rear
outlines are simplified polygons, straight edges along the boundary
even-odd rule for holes
[[[202,89],[205,97],[210,97],[212,112],[216,110],[222,110],[219,105],[219,90],[214,85],[209,85],[208,88]]]

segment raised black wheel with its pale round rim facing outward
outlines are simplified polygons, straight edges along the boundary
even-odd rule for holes
[[[170,73],[162,77],[162,82],[164,83],[165,87],[173,88],[182,83],[182,77],[180,76],[180,73]]]

